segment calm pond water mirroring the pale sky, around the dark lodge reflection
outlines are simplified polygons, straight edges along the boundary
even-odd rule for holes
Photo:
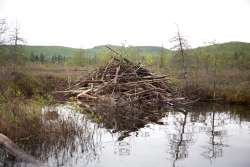
[[[46,112],[48,108],[44,108]],[[23,149],[45,166],[76,167],[249,167],[250,107],[203,104],[186,113],[166,112],[160,124],[148,124],[122,141],[70,105],[54,107],[74,120],[79,133],[53,145]],[[56,120],[54,120],[56,121]],[[59,139],[58,139],[59,140]],[[31,144],[33,143],[33,144]],[[0,166],[27,164],[3,160]]]

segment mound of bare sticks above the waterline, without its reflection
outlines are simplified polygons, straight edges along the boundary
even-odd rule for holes
[[[113,57],[105,66],[63,93],[82,102],[105,101],[115,105],[170,105],[176,98],[167,76],[158,76],[125,58]]]

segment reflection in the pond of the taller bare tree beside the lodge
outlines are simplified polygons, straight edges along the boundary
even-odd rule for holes
[[[174,130],[169,134],[169,154],[171,159],[174,160],[173,166],[175,166],[177,160],[188,157],[188,147],[193,141],[193,128],[192,126],[187,126],[188,112],[181,113],[181,115],[174,117],[173,127],[170,127],[170,130]]]

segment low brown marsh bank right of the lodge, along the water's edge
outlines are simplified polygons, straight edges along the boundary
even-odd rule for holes
[[[190,96],[202,101],[250,104],[250,71],[238,69],[220,70],[216,77],[206,71],[189,72],[187,84],[180,79],[178,84]]]

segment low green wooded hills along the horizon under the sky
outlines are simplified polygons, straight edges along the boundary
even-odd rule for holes
[[[51,60],[53,57],[70,57],[80,52],[84,52],[87,57],[95,57],[102,55],[110,55],[110,50],[104,45],[96,46],[89,49],[77,49],[63,46],[23,46],[26,57],[32,55],[40,56],[43,54],[45,59]],[[157,46],[130,46],[122,47],[117,45],[111,45],[111,48],[117,52],[136,60],[141,60],[142,56],[151,57],[164,55],[165,61],[171,60],[172,51],[166,48]],[[242,64],[243,66],[250,67],[250,43],[243,42],[228,42],[223,44],[215,44],[210,46],[203,46],[188,50],[188,57],[186,58],[189,62],[194,62],[197,58],[208,62],[212,62],[213,56],[217,55],[218,63],[221,64]],[[1,56],[3,58],[3,56]]]

